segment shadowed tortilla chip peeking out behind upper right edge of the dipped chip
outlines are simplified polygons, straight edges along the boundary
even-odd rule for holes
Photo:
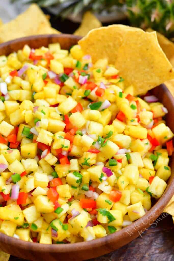
[[[154,30],[152,30],[151,28],[148,28],[146,31],[153,32]],[[169,59],[170,63],[174,67],[174,43],[172,41],[170,41],[169,39],[167,39],[164,35],[162,35],[158,32],[157,32],[157,38],[158,38],[158,42],[161,46],[161,49],[163,50],[163,52]]]

